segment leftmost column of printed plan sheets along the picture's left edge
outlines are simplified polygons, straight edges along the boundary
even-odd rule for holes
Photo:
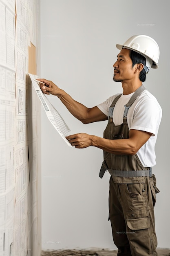
[[[15,1],[0,1],[0,255],[13,251],[15,212]]]

